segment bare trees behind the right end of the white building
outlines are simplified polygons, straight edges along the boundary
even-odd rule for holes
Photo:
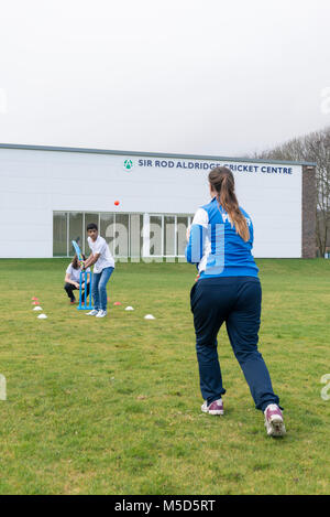
[[[330,127],[289,140],[272,150],[254,154],[254,158],[317,164],[316,243],[320,256],[324,257],[330,236]]]

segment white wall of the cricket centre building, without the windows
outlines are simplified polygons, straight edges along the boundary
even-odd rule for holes
[[[240,204],[254,223],[254,256],[301,257],[300,165],[3,148],[0,257],[52,257],[53,212],[195,213],[209,201],[207,175],[215,165],[233,170]]]

